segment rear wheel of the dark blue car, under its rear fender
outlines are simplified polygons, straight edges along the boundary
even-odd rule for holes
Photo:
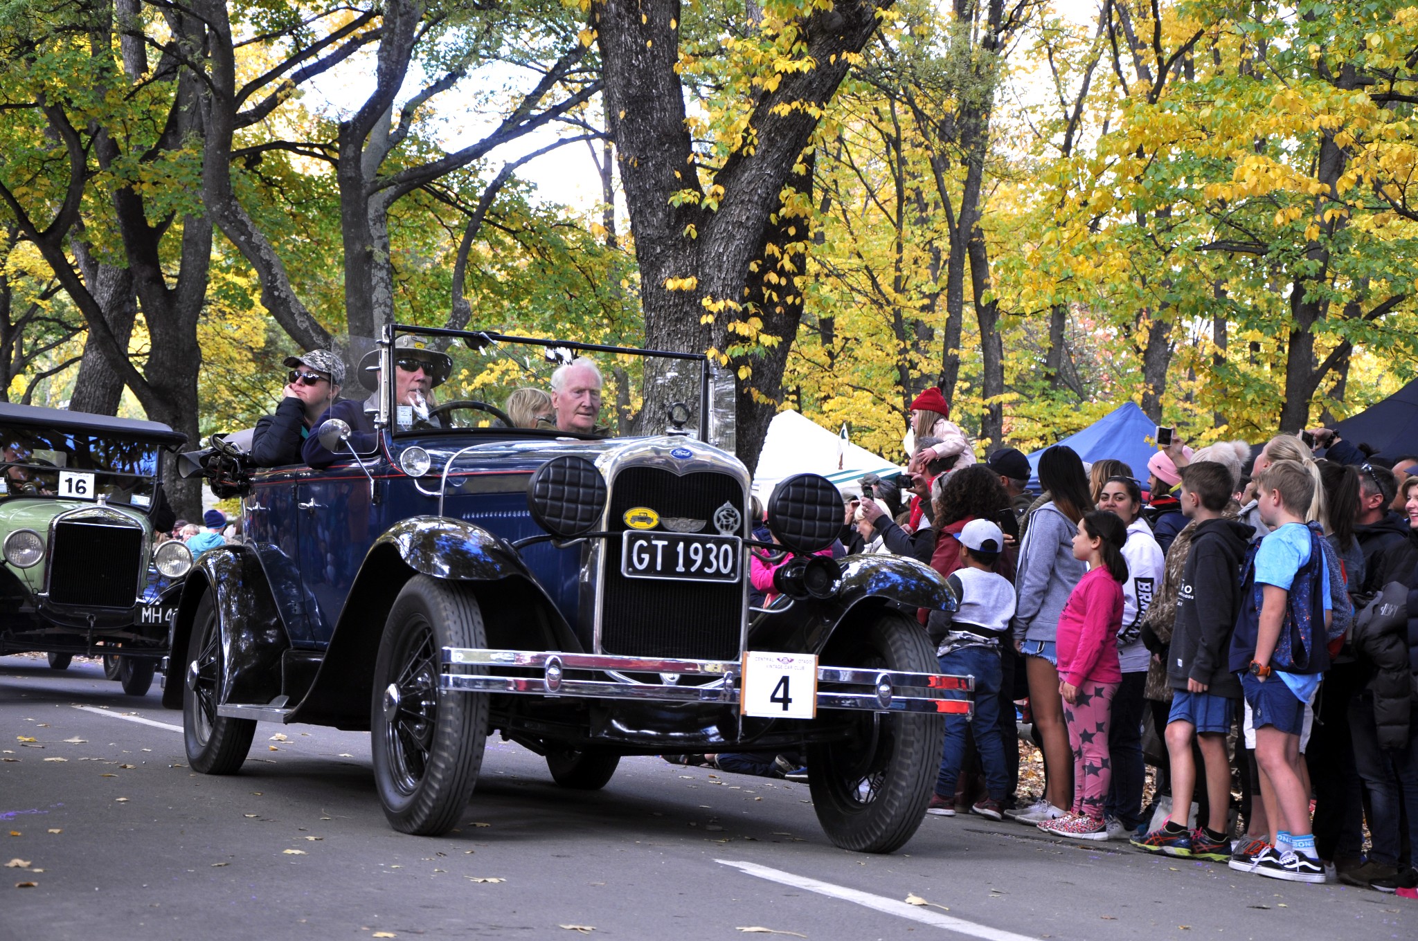
[[[125,658],[126,660],[126,658]],[[173,680],[186,683],[191,665],[196,680],[183,690],[182,728],[187,764],[201,774],[235,774],[251,751],[257,734],[254,719],[230,719],[217,714],[221,701],[221,631],[211,592],[203,595],[187,641],[187,659]]]

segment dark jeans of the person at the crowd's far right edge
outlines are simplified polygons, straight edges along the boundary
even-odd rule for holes
[[[1409,721],[1418,721],[1418,709]],[[1402,856],[1398,821],[1408,813],[1409,855],[1418,852],[1418,737],[1411,733],[1405,748],[1380,748],[1374,723],[1374,694],[1363,690],[1349,703],[1349,727],[1354,740],[1354,764],[1368,791],[1370,826],[1374,840],[1368,857],[1388,866]],[[1409,866],[1414,860],[1405,860]]]

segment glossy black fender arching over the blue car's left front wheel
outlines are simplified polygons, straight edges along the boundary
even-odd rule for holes
[[[508,541],[464,520],[414,516],[391,526],[364,556],[320,669],[291,721],[369,728],[379,641],[394,599],[415,574],[472,582],[493,646],[580,650],[570,625]]]

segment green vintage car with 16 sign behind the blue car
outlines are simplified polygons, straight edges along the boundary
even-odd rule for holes
[[[173,526],[152,421],[0,402],[0,653],[74,655],[142,696],[169,649],[191,553]]]

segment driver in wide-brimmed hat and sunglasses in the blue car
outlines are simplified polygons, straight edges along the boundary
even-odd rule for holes
[[[444,428],[442,415],[432,414],[437,408],[432,390],[447,381],[452,371],[452,357],[428,346],[424,337],[404,334],[394,340],[394,414],[390,415],[396,431],[420,425]],[[328,418],[339,418],[350,427],[350,446],[357,453],[369,453],[377,446],[374,414],[379,412],[379,350],[370,350],[359,364],[359,380],[370,395],[364,401],[345,400],[328,408],[316,421],[319,428]],[[319,438],[311,436],[301,448],[305,463],[316,469],[330,466],[337,461],[349,461],[349,449],[339,453],[329,451]]]

